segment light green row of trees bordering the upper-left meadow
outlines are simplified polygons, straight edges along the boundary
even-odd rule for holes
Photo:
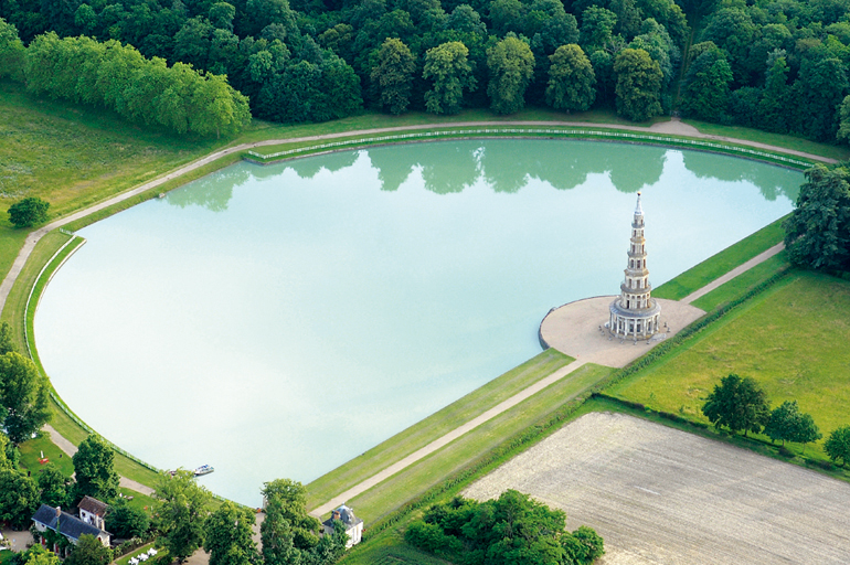
[[[225,76],[184,63],[168,66],[117,41],[60,39],[53,32],[24,49],[15,33],[0,20],[0,53],[10,57],[3,73],[24,81],[32,93],[108,108],[177,134],[234,134],[251,120],[247,98]]]

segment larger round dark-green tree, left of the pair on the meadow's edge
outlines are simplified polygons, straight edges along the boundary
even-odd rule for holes
[[[757,434],[767,424],[771,404],[753,379],[736,374],[724,376],[709,394],[702,413],[715,427],[726,426],[733,433],[744,430]]]

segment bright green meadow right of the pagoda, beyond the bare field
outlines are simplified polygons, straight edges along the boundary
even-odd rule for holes
[[[772,406],[798,401],[825,437],[850,424],[850,282],[795,271],[674,353],[605,391],[698,422],[721,377],[752,376]],[[822,440],[806,454],[824,458]],[[796,452],[803,447],[789,445]]]

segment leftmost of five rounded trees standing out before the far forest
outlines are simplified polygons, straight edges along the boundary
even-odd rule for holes
[[[370,75],[381,108],[396,115],[407,109],[415,71],[416,62],[407,45],[397,38],[386,38]]]

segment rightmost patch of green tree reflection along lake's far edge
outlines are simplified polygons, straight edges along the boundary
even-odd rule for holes
[[[723,166],[718,166],[719,157],[701,151],[687,151],[684,168],[700,179],[719,179],[722,181],[748,181],[769,201],[783,195],[791,202],[797,201],[803,181],[794,171],[782,167],[765,167],[765,163],[751,159],[723,158]]]

